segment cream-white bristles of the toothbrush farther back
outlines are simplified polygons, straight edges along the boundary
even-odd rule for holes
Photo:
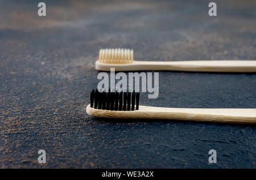
[[[98,60],[102,63],[126,64],[133,63],[132,49],[101,49]]]

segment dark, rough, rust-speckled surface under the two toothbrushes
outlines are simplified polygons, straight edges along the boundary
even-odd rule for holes
[[[86,114],[100,48],[135,59],[256,59],[256,1],[0,1],[0,168],[256,168],[253,125]],[[256,74],[159,72],[142,105],[255,108]],[[45,149],[47,163],[38,164]],[[208,163],[216,149],[217,164]]]

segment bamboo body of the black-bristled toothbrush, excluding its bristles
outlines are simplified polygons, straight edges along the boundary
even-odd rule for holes
[[[116,119],[173,119],[224,123],[256,123],[256,109],[159,108],[139,106],[139,110],[102,110],[87,106],[93,117]]]

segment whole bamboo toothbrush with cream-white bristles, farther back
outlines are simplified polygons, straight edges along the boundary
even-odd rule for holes
[[[256,61],[134,61],[132,49],[101,49],[95,67],[100,71],[115,68],[115,71],[256,72]]]

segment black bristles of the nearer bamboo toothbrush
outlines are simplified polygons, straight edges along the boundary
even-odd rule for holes
[[[135,106],[136,100],[136,106]],[[102,110],[138,110],[139,93],[131,92],[90,92],[90,108]]]

